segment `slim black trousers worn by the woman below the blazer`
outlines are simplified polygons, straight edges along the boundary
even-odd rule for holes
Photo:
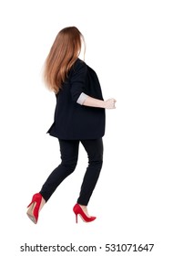
[[[61,164],[48,176],[46,183],[43,185],[40,194],[47,201],[52,196],[56,187],[75,171],[79,143],[83,144],[87,157],[88,166],[83,183],[80,190],[80,195],[77,203],[87,205],[97,184],[97,179],[103,163],[103,142],[102,138],[97,140],[59,140],[61,152]]]

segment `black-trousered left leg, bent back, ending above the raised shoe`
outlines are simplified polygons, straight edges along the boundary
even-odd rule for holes
[[[76,168],[79,141],[59,140],[59,144],[62,162],[48,176],[46,183],[39,192],[46,201],[52,196],[56,187]]]

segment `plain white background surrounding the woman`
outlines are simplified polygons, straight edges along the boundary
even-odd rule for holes
[[[102,247],[87,255],[171,255],[171,4],[0,2],[2,255],[56,255],[20,252],[20,246],[70,242]],[[46,134],[56,99],[45,88],[42,68],[57,32],[67,26],[85,36],[86,63],[97,71],[104,98],[117,99],[117,109],[107,111],[104,165],[88,205],[97,220],[76,225],[72,211],[87,165],[80,147],[76,172],[56,189],[35,225],[26,217],[26,206],[60,161],[57,140]],[[155,247],[152,252],[105,252],[107,243]]]

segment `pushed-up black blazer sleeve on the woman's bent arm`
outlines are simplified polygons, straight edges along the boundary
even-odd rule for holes
[[[81,93],[86,92],[86,71],[86,63],[78,59],[72,68],[70,76],[70,92],[73,101],[77,101]]]

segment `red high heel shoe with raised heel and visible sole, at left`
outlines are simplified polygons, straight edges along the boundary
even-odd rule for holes
[[[31,203],[28,205],[28,210],[26,212],[27,216],[29,219],[31,219],[35,224],[37,223],[38,220],[38,213],[43,208],[45,205],[46,201],[42,197],[40,193],[36,193],[33,198]]]

